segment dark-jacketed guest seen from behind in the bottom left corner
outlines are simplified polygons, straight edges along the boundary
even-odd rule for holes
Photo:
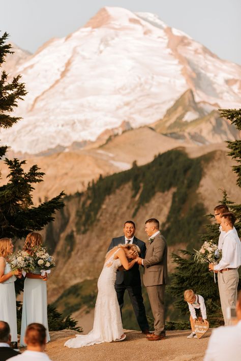
[[[10,357],[20,354],[10,347],[11,335],[9,324],[5,321],[0,321],[0,360],[5,361]]]

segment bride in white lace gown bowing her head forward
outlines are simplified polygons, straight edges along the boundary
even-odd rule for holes
[[[76,335],[65,346],[78,348],[100,344],[103,342],[122,341],[126,338],[123,333],[122,318],[114,289],[116,270],[130,269],[137,262],[139,247],[136,245],[118,245],[105,256],[105,263],[98,280],[98,296],[95,306],[93,330],[87,335]],[[132,259],[130,262],[128,259]]]

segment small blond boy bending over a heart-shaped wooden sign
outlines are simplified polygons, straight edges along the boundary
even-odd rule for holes
[[[194,332],[194,322],[195,320],[199,320],[207,323],[206,316],[206,307],[204,304],[204,299],[200,294],[195,294],[192,289],[187,289],[184,292],[184,299],[188,303],[189,311],[190,311],[190,323],[192,328],[192,333],[188,336],[188,339],[195,338],[197,339],[197,335]]]

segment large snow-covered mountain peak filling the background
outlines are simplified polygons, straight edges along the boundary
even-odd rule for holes
[[[153,14],[122,8],[103,8],[73,34],[50,40],[14,74],[28,94],[16,110],[23,119],[1,132],[1,143],[31,154],[95,140],[123,121],[154,123],[187,89],[215,108],[241,101],[240,66]]]

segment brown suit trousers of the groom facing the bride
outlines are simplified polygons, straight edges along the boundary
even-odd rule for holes
[[[154,317],[154,334],[165,335],[164,292],[166,285],[146,286]]]

